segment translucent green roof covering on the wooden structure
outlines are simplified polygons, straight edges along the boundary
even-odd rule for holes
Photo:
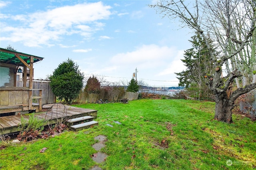
[[[24,65],[16,55],[19,55],[26,63],[30,64],[30,58],[34,57],[34,63],[41,61],[43,58],[35,55],[21,53],[18,51],[12,51],[9,49],[0,48],[0,63],[13,64],[13,65]]]

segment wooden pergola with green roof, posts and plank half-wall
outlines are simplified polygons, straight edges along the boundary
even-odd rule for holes
[[[42,110],[42,89],[33,89],[33,63],[42,59],[35,55],[0,48],[0,67],[14,69],[13,85],[0,88],[0,113],[33,110],[32,99],[39,99],[39,111]],[[23,67],[23,88],[16,87],[16,75],[19,67]],[[26,87],[27,69],[29,69],[29,87]],[[33,90],[39,90],[40,95],[33,97]]]

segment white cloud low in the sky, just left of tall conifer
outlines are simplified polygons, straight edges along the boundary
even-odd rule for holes
[[[154,69],[161,67],[160,75],[175,72],[182,67],[182,63],[177,62],[182,58],[182,51],[177,51],[173,47],[158,45],[142,45],[135,51],[119,53],[112,57],[111,65],[123,67],[124,65],[137,65],[140,69]],[[174,61],[173,61],[174,60]],[[174,65],[172,65],[174,63]],[[175,66],[175,69],[169,69]],[[174,67],[171,67],[174,68]]]

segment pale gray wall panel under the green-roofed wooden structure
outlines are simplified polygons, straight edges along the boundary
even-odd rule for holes
[[[14,69],[12,67],[0,67],[0,87],[14,87]]]

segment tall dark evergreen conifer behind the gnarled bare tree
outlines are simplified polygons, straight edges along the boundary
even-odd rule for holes
[[[181,61],[186,66],[186,70],[180,73],[175,73],[179,77],[179,86],[185,86],[187,89],[192,88],[193,91],[199,93],[211,93],[210,89],[206,85],[205,75],[206,73],[214,73],[215,63],[214,59],[211,57],[211,53],[216,53],[214,46],[212,45],[212,51],[209,52],[205,41],[200,36],[196,34],[189,40],[192,43],[192,48],[185,50],[184,59]],[[210,43],[212,41],[208,40]]]

